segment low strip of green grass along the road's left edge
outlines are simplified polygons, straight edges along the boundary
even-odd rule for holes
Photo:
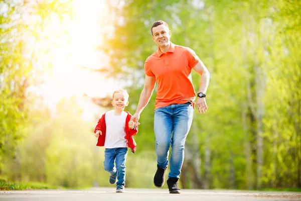
[[[32,189],[58,189],[57,186],[51,186],[39,182],[8,182],[0,179],[0,190],[32,190]]]

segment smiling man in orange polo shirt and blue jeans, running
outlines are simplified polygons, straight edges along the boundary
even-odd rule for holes
[[[181,193],[178,180],[184,161],[184,146],[192,124],[196,98],[191,71],[194,69],[201,75],[196,100],[199,113],[205,113],[208,109],[205,93],[210,75],[192,49],[175,45],[170,41],[172,32],[166,22],[155,22],[151,30],[158,50],[145,61],[144,87],[131,120],[138,125],[140,114],[148,104],[155,84],[158,82],[154,118],[158,169],[154,177],[154,184],[157,187],[162,187],[164,184],[171,145],[170,173],[167,184],[170,193]]]

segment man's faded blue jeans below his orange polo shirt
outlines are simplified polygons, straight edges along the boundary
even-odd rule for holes
[[[169,148],[172,145],[169,178],[180,178],[184,146],[192,124],[193,113],[194,108],[191,103],[173,104],[155,111],[154,131],[159,167],[168,166]]]

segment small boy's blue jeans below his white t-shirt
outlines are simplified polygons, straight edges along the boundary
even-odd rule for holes
[[[104,150],[104,170],[112,175],[117,175],[117,187],[125,185],[125,160],[127,148],[111,148]],[[114,161],[116,166],[114,166]]]

